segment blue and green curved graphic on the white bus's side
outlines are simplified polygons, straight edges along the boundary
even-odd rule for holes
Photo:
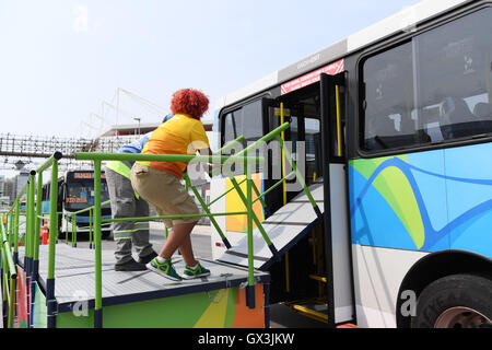
[[[492,144],[350,161],[352,243],[492,257]]]

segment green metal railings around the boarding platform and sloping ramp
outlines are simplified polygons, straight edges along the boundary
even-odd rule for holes
[[[269,246],[272,255],[277,258],[280,258],[279,253],[277,248],[274,247],[271,240],[268,237],[267,232],[261,225],[261,222],[259,218],[255,214],[254,211],[254,205],[257,201],[260,201],[263,207],[266,207],[266,203],[263,201],[265,196],[270,194],[274,188],[280,186],[280,184],[283,184],[286,182],[291,176],[295,175],[297,179],[300,180],[300,184],[302,185],[304,191],[306,192],[307,197],[309,198],[309,201],[312,202],[315,211],[319,213],[319,209],[316,206],[316,202],[313,199],[313,196],[311,195],[304,178],[301,174],[301,172],[297,170],[295,162],[293,161],[291,154],[288,152],[285,148],[285,143],[280,139],[280,133],[286,130],[290,127],[289,122],[285,122],[274,129],[273,131],[267,133],[256,142],[251,143],[247,148],[235,152],[232,155],[222,155],[226,151],[231,151],[233,149],[237,149],[238,144],[241,144],[244,141],[243,137],[237,138],[236,140],[227,143],[225,147],[223,147],[221,150],[218,151],[216,155],[179,155],[179,154],[126,154],[126,153],[86,153],[86,152],[79,152],[75,154],[75,160],[79,161],[92,161],[94,164],[94,206],[90,208],[85,208],[83,210],[70,213],[72,215],[72,246],[77,246],[77,215],[81,213],[85,213],[89,211],[90,213],[90,220],[89,220],[89,232],[90,232],[90,244],[92,244],[92,241],[94,242],[94,275],[95,275],[95,298],[94,298],[94,326],[95,327],[102,327],[103,326],[103,299],[102,299],[102,225],[103,224],[110,224],[112,222],[120,222],[120,221],[134,221],[134,222],[142,222],[142,221],[153,221],[153,220],[163,220],[163,219],[180,219],[180,218],[202,218],[207,217],[210,219],[211,224],[214,226],[219,235],[221,236],[222,241],[224,242],[224,245],[230,248],[231,245],[225,236],[225,234],[222,232],[220,225],[215,221],[215,217],[220,215],[238,215],[238,214],[246,214],[247,215],[247,243],[248,243],[248,278],[247,278],[247,304],[249,307],[255,307],[255,293],[254,293],[254,252],[253,252],[253,228],[254,224],[256,224],[259,233],[261,234],[262,238]],[[271,140],[279,140],[280,145],[284,150],[286,154],[286,160],[292,166],[292,172],[288,174],[286,176],[282,177],[279,182],[273,184],[269,189],[267,189],[263,192],[260,192],[258,188],[255,186],[255,183],[253,180],[253,166],[256,166],[258,162],[262,162],[263,159],[261,156],[251,156],[251,152],[256,152],[257,149],[259,149],[262,143],[267,143]],[[17,257],[17,238],[19,238],[19,218],[20,218],[20,198],[23,194],[27,195],[26,199],[26,232],[24,235],[24,242],[25,242],[25,253],[24,253],[24,269],[27,272],[27,276],[30,278],[30,281],[32,284],[30,285],[30,290],[34,292],[34,281],[38,278],[38,264],[39,264],[39,229],[40,229],[40,220],[49,219],[49,247],[48,247],[48,275],[46,280],[46,300],[47,300],[47,317],[48,317],[48,327],[55,327],[55,310],[56,310],[56,299],[55,299],[55,262],[56,262],[56,242],[58,237],[58,215],[60,214],[57,212],[57,196],[58,196],[58,161],[61,158],[61,153],[57,152],[55,153],[50,159],[48,159],[37,171],[33,171],[30,174],[28,182],[23,188],[23,191],[21,191],[20,196],[14,201],[14,206],[9,211],[9,236],[7,237],[8,241],[3,240],[3,232],[2,229],[2,256],[8,256],[8,253],[11,249],[11,246],[13,246],[14,254],[12,261],[14,264],[17,264],[16,257]],[[159,215],[159,217],[144,217],[144,218],[119,218],[119,219],[102,219],[102,212],[101,207],[103,205],[108,203],[101,202],[101,172],[102,172],[102,162],[103,161],[144,161],[144,162],[208,162],[212,164],[220,164],[222,165],[222,170],[225,171],[225,174],[223,174],[225,177],[230,178],[231,183],[233,184],[233,188],[229,189],[224,194],[220,195],[218,198],[210,201],[209,205],[203,200],[203,198],[200,196],[199,191],[195,186],[192,186],[191,180],[188,176],[188,174],[185,174],[184,180],[187,186],[187,188],[190,188],[197,198],[197,200],[200,202],[203,212],[200,214],[171,214],[171,215]],[[245,168],[245,178],[241,182],[238,182],[235,178],[235,174],[231,171],[231,165],[233,164],[242,164]],[[44,217],[47,213],[42,212],[40,208],[40,197],[42,197],[42,184],[43,184],[43,172],[51,168],[51,186],[50,186],[50,210],[49,210],[49,218]],[[218,175],[221,173],[221,170],[213,170],[212,176]],[[37,190],[35,188],[35,175],[37,174]],[[246,183],[246,189],[242,189],[242,185]],[[212,213],[210,210],[210,207],[215,203],[220,198],[223,198],[232,190],[235,190],[242,202],[244,203],[245,210],[244,211],[237,211],[237,212],[222,212],[222,213]],[[256,195],[256,199],[254,199],[254,194]],[[36,196],[37,195],[37,196]],[[37,201],[35,198],[37,197]],[[66,243],[67,236],[66,236]],[[5,250],[5,252],[3,252]],[[7,262],[7,267],[10,271],[11,262],[7,258],[4,259]],[[3,261],[3,260],[2,260]],[[11,281],[12,279],[12,273]],[[32,307],[31,307],[32,308]],[[31,325],[31,324],[30,324]]]

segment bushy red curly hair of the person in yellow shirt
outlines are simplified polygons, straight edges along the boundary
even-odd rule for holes
[[[209,109],[209,98],[195,89],[181,89],[173,94],[171,100],[171,113],[187,114],[195,119],[200,119]]]

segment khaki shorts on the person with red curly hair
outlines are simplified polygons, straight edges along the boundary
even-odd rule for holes
[[[155,207],[161,215],[199,214],[194,198],[186,191],[179,178],[156,168],[134,163],[131,172],[131,186],[139,196]],[[191,223],[200,218],[164,219],[167,229],[175,224]]]

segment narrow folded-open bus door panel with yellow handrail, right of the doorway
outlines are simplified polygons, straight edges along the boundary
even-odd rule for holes
[[[321,153],[324,177],[324,249],[329,324],[354,319],[348,176],[344,152],[347,72],[321,73]]]

